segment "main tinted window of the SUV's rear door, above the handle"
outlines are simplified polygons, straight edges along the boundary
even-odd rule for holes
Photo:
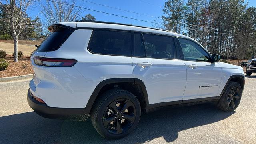
[[[146,56],[150,58],[176,58],[174,40],[170,36],[143,34]]]

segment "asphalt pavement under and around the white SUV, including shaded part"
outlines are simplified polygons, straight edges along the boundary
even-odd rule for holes
[[[169,108],[143,114],[134,132],[119,140],[103,139],[86,122],[52,120],[28,106],[29,80],[0,83],[0,144],[256,144],[256,74],[246,76],[235,112],[214,103]]]

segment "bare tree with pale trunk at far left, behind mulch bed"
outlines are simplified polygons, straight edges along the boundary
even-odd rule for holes
[[[4,21],[10,24],[12,38],[14,40],[14,62],[18,62],[18,36],[29,26],[31,20],[26,15],[26,10],[34,0],[6,0],[6,4],[0,2],[2,12],[6,14]]]

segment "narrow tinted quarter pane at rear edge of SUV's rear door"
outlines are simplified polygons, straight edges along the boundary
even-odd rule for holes
[[[134,33],[134,56],[145,57],[145,48],[141,33]]]

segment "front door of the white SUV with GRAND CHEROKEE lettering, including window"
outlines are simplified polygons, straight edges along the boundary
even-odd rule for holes
[[[196,42],[178,38],[187,68],[186,90],[183,100],[208,98],[218,94],[222,69],[218,62],[212,63],[210,54]]]

